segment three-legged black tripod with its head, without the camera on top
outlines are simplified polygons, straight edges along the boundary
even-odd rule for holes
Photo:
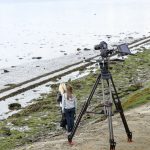
[[[103,94],[103,107],[104,107],[104,114],[107,116],[108,118],[108,127],[109,127],[109,143],[110,143],[110,150],[115,150],[115,146],[116,146],[116,142],[114,141],[114,133],[113,133],[113,125],[112,125],[112,104],[115,104],[116,110],[117,112],[120,113],[120,117],[122,119],[126,134],[127,134],[127,138],[128,138],[128,142],[132,141],[132,132],[130,132],[126,118],[124,116],[124,112],[123,112],[123,108],[112,78],[112,75],[110,73],[110,71],[108,70],[108,58],[103,58],[102,61],[99,62],[99,66],[100,66],[100,70],[101,73],[98,75],[96,82],[91,90],[91,93],[87,99],[87,101],[84,103],[79,116],[76,120],[76,123],[73,127],[73,130],[71,132],[70,135],[68,135],[68,142],[72,142],[72,138],[78,128],[78,125],[82,119],[82,116],[84,115],[84,113],[86,112],[90,101],[95,93],[95,90],[98,86],[98,84],[102,83],[102,94]],[[105,92],[104,92],[104,81],[106,81],[107,83],[107,88],[109,91],[109,99],[105,98]]]

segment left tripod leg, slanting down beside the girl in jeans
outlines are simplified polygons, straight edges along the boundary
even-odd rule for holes
[[[75,123],[75,125],[73,127],[73,130],[72,130],[71,134],[68,135],[68,142],[72,142],[72,138],[73,138],[73,136],[74,136],[74,134],[75,134],[75,132],[76,132],[76,130],[78,128],[78,125],[79,125],[79,123],[80,123],[80,121],[82,119],[82,116],[84,115],[85,111],[87,110],[88,105],[90,104],[90,101],[91,101],[91,99],[92,99],[92,97],[93,97],[93,95],[95,93],[95,90],[96,90],[96,88],[97,88],[97,86],[98,86],[98,84],[100,82],[100,79],[101,79],[101,74],[97,77],[96,82],[95,82],[95,84],[94,84],[94,86],[92,88],[92,91],[91,91],[87,101],[84,103],[84,105],[83,105],[83,107],[82,107],[82,109],[81,109],[81,111],[79,113],[79,116],[78,116],[78,118],[76,120],[76,123]]]

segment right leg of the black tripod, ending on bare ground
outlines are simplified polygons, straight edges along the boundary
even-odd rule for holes
[[[119,110],[119,113],[120,113],[120,116],[121,116],[121,119],[122,119],[122,122],[123,122],[123,125],[124,125],[124,128],[125,128],[125,131],[126,131],[126,134],[127,134],[127,137],[128,137],[128,142],[132,142],[132,132],[129,130],[129,127],[128,127],[128,124],[127,124],[127,121],[126,121],[126,118],[125,118],[125,115],[124,115],[124,112],[123,112],[123,108],[122,108],[122,105],[121,105],[121,102],[120,102],[120,99],[119,99],[119,96],[118,96],[118,93],[117,93],[117,90],[116,90],[116,87],[115,87],[112,76],[111,76],[110,79],[111,79],[112,86],[113,86],[113,89],[114,89],[114,92],[115,92],[115,93],[112,93],[113,101],[115,103],[116,109]],[[107,83],[109,84],[108,81],[107,81]]]

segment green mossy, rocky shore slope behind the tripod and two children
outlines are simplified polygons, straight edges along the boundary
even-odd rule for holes
[[[125,109],[149,102],[150,50],[143,49],[142,51],[137,53],[136,56],[130,56],[125,62],[115,62],[110,66],[110,71]],[[70,81],[78,99],[78,113],[89,96],[98,73],[99,69],[96,72],[91,71],[91,74],[86,77]],[[43,95],[19,113],[0,122],[1,150],[14,149],[45,138],[51,139],[64,133],[59,127],[60,111],[56,102],[58,85],[53,85],[51,88],[51,93]],[[89,111],[100,110],[98,101],[101,96],[100,86],[88,108]],[[104,116],[86,114],[81,122],[81,128],[94,122],[99,123],[104,119]],[[66,141],[66,139],[63,138],[63,141]]]

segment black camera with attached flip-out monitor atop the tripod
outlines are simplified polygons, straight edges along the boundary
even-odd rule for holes
[[[107,58],[112,54],[119,53],[120,56],[132,55],[126,43],[117,46],[117,49],[108,49],[108,44],[105,41],[100,42],[100,44],[94,46],[95,50],[100,50],[100,56],[102,58]]]

